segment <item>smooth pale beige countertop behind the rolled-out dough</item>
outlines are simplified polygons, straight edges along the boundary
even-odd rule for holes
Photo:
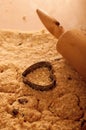
[[[55,17],[67,29],[86,23],[86,0],[0,0],[0,29],[44,28],[36,14],[37,8]]]

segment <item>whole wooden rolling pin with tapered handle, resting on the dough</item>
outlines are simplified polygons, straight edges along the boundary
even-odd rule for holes
[[[84,77],[86,80],[86,35],[80,30],[64,31],[60,23],[37,9],[42,23],[57,39],[57,51]]]

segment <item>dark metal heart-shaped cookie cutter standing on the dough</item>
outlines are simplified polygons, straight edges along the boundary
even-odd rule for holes
[[[39,68],[42,68],[42,67],[47,67],[49,72],[50,72],[50,75],[49,75],[49,78],[51,80],[51,83],[49,85],[39,85],[39,84],[35,84],[31,81],[29,81],[26,76],[28,74],[30,74],[31,72],[33,72],[34,70],[36,69],[39,69]],[[22,73],[22,76],[23,76],[23,82],[27,85],[29,85],[31,88],[33,89],[36,89],[36,90],[40,90],[40,91],[47,91],[47,90],[50,90],[52,88],[54,88],[56,86],[56,78],[54,76],[54,71],[53,71],[53,67],[51,65],[50,62],[47,62],[47,61],[41,61],[41,62],[37,62],[33,65],[31,65],[30,67],[28,67],[23,73]],[[40,77],[39,77],[40,78]]]

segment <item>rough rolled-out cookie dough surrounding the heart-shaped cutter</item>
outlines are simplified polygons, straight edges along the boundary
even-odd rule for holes
[[[45,32],[0,32],[0,130],[80,130],[85,125],[86,83],[59,59],[56,43]],[[39,61],[53,66],[57,85],[52,90],[36,91],[23,83],[22,72]]]

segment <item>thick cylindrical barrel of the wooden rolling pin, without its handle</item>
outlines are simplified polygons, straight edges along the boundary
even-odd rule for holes
[[[69,30],[63,33],[57,42],[57,51],[86,80],[86,35],[80,30]]]

